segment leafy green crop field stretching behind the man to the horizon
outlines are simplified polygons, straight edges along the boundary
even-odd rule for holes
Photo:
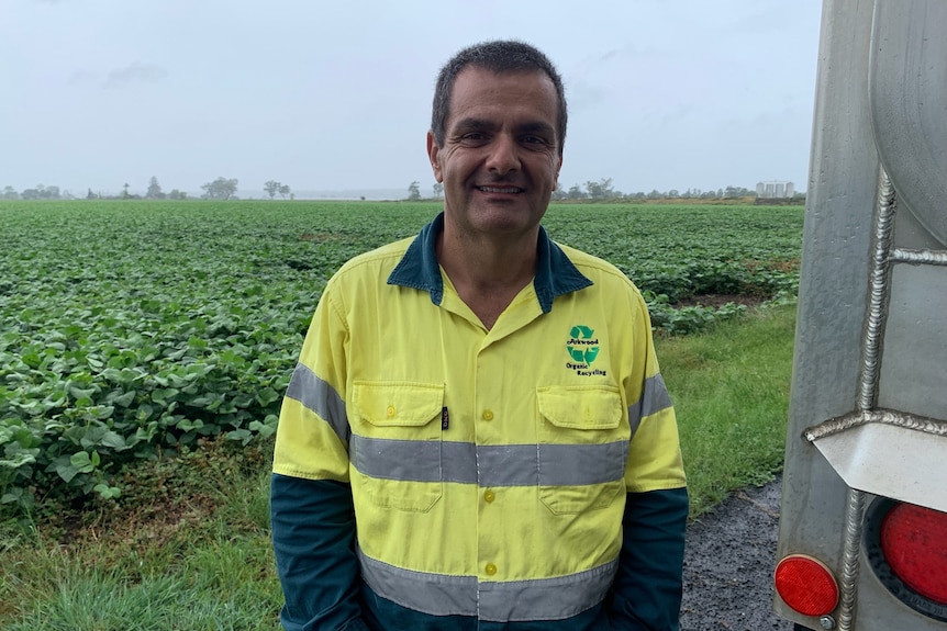
[[[0,515],[47,498],[108,500],[129,463],[212,437],[271,436],[328,277],[437,211],[0,202]],[[677,336],[738,316],[747,301],[794,296],[802,214],[559,205],[545,226],[625,271],[658,335]]]

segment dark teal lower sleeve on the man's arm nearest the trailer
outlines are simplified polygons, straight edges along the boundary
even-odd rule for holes
[[[613,631],[680,629],[688,510],[686,488],[627,495],[609,612]]]

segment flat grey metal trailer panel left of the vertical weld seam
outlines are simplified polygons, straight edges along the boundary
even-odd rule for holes
[[[847,486],[803,431],[855,409],[858,395],[879,177],[864,99],[872,10],[869,2],[823,4],[777,543],[778,559],[809,554],[833,568],[844,552]],[[818,628],[778,596],[773,606],[783,618]]]

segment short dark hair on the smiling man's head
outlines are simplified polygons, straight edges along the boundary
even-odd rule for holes
[[[562,78],[556,67],[538,48],[515,40],[498,40],[493,42],[481,42],[464,48],[452,57],[437,75],[437,83],[434,87],[434,108],[431,115],[431,132],[437,146],[444,146],[445,125],[447,115],[450,113],[450,95],[454,93],[454,81],[457,75],[467,66],[476,66],[490,70],[498,75],[506,72],[539,71],[544,72],[553,81],[556,88],[556,97],[559,101],[559,155],[562,155],[562,145],[566,142],[566,91],[562,88]]]

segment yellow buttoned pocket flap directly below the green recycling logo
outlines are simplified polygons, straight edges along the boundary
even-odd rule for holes
[[[622,395],[604,386],[536,388],[539,414],[556,427],[615,429],[622,421]]]

